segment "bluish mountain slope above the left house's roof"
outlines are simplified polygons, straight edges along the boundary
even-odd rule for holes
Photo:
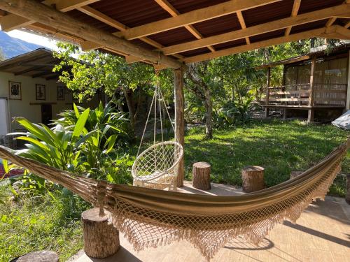
[[[0,48],[6,59],[8,59],[19,54],[36,50],[37,48],[43,48],[43,46],[13,38],[8,36],[5,32],[0,31]]]

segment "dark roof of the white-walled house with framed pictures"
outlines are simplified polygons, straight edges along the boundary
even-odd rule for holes
[[[14,75],[27,75],[32,78],[57,79],[59,73],[52,68],[59,64],[59,59],[52,56],[52,51],[38,48],[34,51],[20,54],[0,62],[0,71]]]

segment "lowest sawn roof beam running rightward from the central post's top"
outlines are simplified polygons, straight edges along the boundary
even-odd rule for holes
[[[335,30],[333,27],[329,27],[329,29]],[[196,55],[193,57],[187,57],[183,61],[185,61],[186,63],[194,63],[197,61],[214,59],[216,57],[223,57],[223,56],[230,55],[230,54],[237,54],[240,52],[246,52],[246,51],[255,50],[258,48],[264,48],[264,47],[267,47],[270,45],[279,45],[281,43],[298,41],[300,39],[307,39],[307,38],[311,38],[311,37],[314,37],[314,36],[322,34],[322,33],[325,34],[325,28],[313,29],[313,30],[304,31],[304,32],[297,33],[297,34],[291,34],[289,36],[281,36],[281,37],[277,37],[277,38],[268,39],[265,41],[260,41],[257,43],[251,43],[250,45],[241,45],[241,46],[238,46],[235,48],[228,48],[225,50],[219,50],[219,51],[208,53],[208,54],[200,54],[200,55]]]

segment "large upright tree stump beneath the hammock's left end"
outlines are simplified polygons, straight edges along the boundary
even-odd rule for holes
[[[119,231],[108,224],[106,216],[99,217],[99,208],[84,211],[81,219],[85,254],[94,259],[105,259],[116,254],[120,247]]]

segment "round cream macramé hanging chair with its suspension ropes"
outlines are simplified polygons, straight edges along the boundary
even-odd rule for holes
[[[158,75],[158,72],[156,72]],[[172,125],[175,133],[169,110],[165,103],[164,96],[160,90],[159,84],[155,86],[150,110],[146,119],[144,132],[142,133],[141,143],[137,152],[137,159],[132,165],[133,185],[136,187],[148,187],[151,189],[169,189],[176,191],[177,174],[179,170],[179,162],[183,157],[183,147],[175,141],[164,141],[163,122],[162,122],[162,104],[167,111],[167,117]],[[144,152],[139,154],[141,145],[144,141],[148,120],[151,111],[154,108],[154,128],[153,128],[153,145],[148,147]],[[156,143],[157,135],[157,110],[160,115],[160,133],[162,142]],[[176,134],[175,134],[176,136]]]

